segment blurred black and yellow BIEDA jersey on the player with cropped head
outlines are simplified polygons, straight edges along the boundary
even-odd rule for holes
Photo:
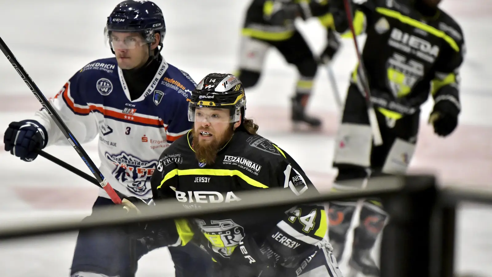
[[[363,3],[354,5],[354,29],[367,34],[362,59],[371,90],[390,94],[416,110],[429,94],[435,102],[448,100],[460,109],[459,68],[465,53],[460,25],[440,9],[432,17],[423,16],[413,0],[359,2]],[[343,7],[332,6],[331,12],[336,30],[346,32]],[[359,78],[355,70],[351,81],[361,88]]]

